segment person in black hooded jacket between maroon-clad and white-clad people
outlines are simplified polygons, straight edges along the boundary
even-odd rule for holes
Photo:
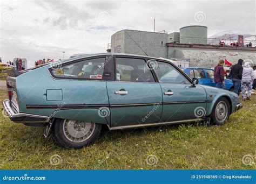
[[[233,82],[234,93],[238,95],[240,93],[240,88],[241,88],[242,69],[243,69],[242,63],[244,63],[244,60],[239,59],[238,63],[232,66],[230,75],[228,75]]]

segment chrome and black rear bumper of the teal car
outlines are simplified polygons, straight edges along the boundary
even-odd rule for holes
[[[3,110],[6,111],[6,115],[9,116],[12,122],[15,123],[47,123],[50,120],[48,116],[32,115],[26,113],[20,113],[17,110],[17,104],[14,101],[4,100]]]

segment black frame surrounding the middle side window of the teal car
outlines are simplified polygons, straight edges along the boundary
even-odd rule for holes
[[[116,82],[140,82],[140,83],[157,83],[158,81],[156,80],[156,77],[154,76],[154,73],[153,73],[153,70],[152,69],[149,69],[152,76],[153,76],[153,80],[152,82],[149,82],[149,81],[146,81],[146,82],[143,82],[143,81],[117,81],[117,62],[116,62],[116,58],[127,58],[127,59],[141,59],[141,60],[144,60],[145,62],[145,65],[147,65],[147,62],[146,62],[146,58],[144,58],[143,56],[140,57],[140,56],[127,56],[127,55],[114,55],[114,81]],[[149,67],[149,65],[147,65]]]

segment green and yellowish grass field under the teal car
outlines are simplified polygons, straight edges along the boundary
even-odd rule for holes
[[[1,101],[6,90],[0,90]],[[255,169],[256,95],[223,126],[110,131],[81,150],[0,117],[0,169]],[[244,155],[254,162],[244,165]]]

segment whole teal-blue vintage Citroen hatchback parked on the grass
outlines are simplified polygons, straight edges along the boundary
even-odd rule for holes
[[[52,130],[66,148],[95,143],[103,125],[222,125],[242,107],[237,94],[199,85],[173,63],[148,56],[86,54],[8,75],[3,110],[11,121],[46,125],[45,136]]]

